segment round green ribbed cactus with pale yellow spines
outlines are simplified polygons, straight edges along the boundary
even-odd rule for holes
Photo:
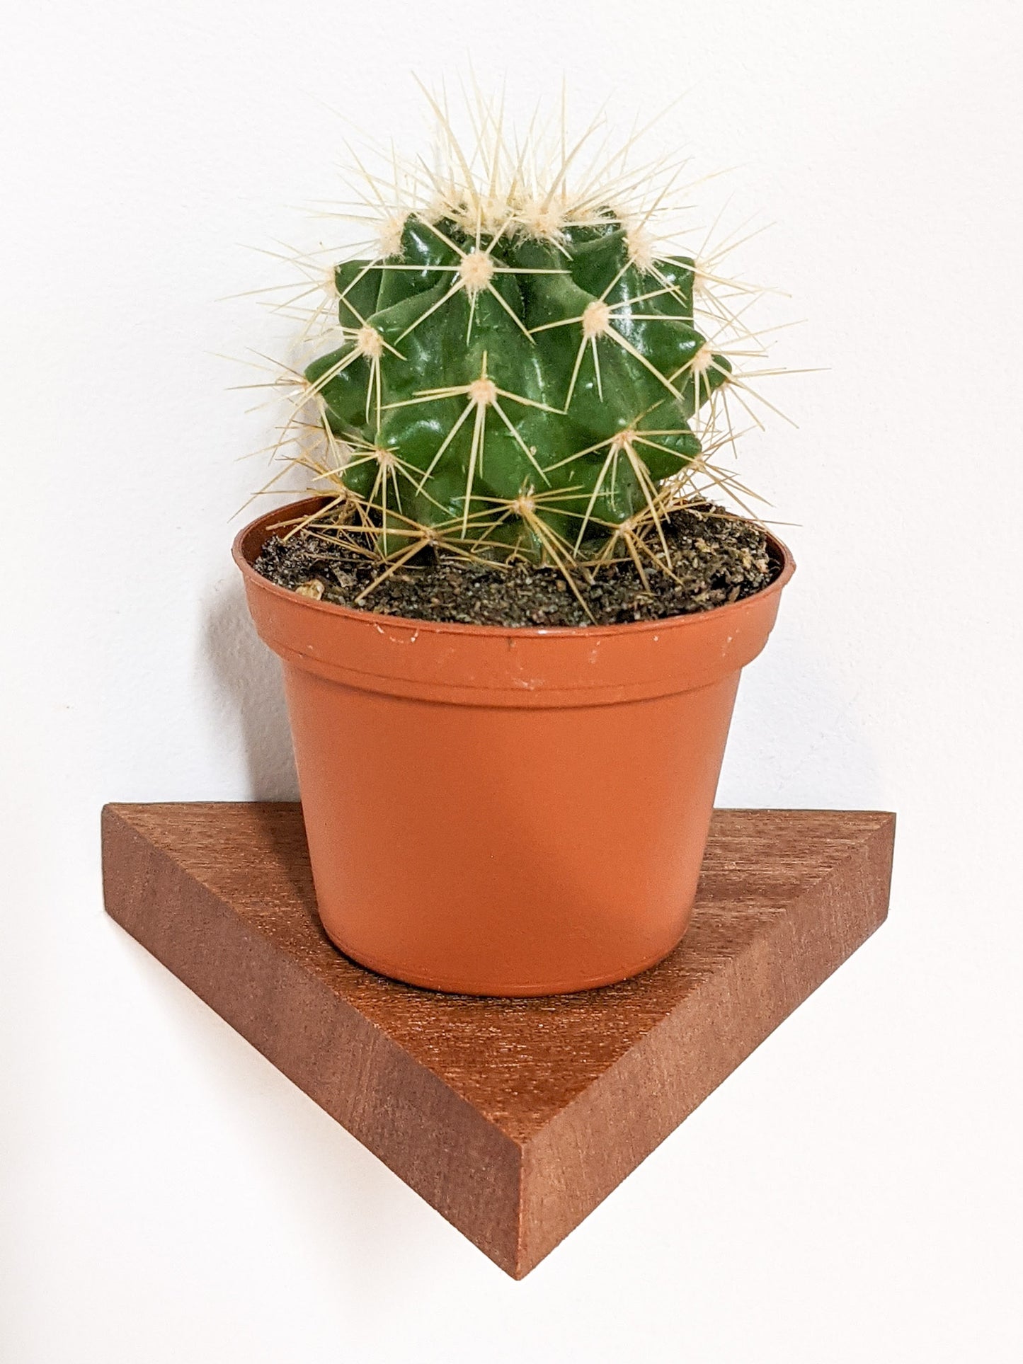
[[[344,342],[306,368],[330,484],[385,557],[597,558],[657,524],[731,372],[693,325],[694,263],[633,251],[610,209],[543,233],[466,217],[412,213],[391,254],[337,266]]]

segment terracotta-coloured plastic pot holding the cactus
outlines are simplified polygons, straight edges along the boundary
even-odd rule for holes
[[[501,629],[405,621],[276,587],[235,542],[284,660],[319,915],[383,975],[555,994],[636,975],[689,923],[739,670],[794,563],[670,621]]]

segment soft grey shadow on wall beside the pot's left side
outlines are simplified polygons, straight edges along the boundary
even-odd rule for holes
[[[255,632],[240,581],[220,584],[206,611],[203,664],[220,735],[236,735],[251,801],[296,801],[281,666]]]

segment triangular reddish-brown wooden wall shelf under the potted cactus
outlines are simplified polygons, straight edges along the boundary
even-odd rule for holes
[[[109,805],[108,913],[516,1278],[884,921],[895,816],[717,810],[693,923],[625,985],[435,994],[325,937],[295,803]]]

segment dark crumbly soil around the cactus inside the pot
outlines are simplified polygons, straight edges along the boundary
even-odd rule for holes
[[[621,625],[738,602],[765,588],[780,569],[761,525],[708,502],[672,513],[664,537],[672,576],[649,559],[642,561],[647,584],[632,561],[574,574],[592,619],[558,569],[491,567],[431,551],[383,578],[357,606],[382,615],[464,625]],[[315,529],[267,540],[255,567],[280,587],[349,607],[382,572],[379,562]]]

